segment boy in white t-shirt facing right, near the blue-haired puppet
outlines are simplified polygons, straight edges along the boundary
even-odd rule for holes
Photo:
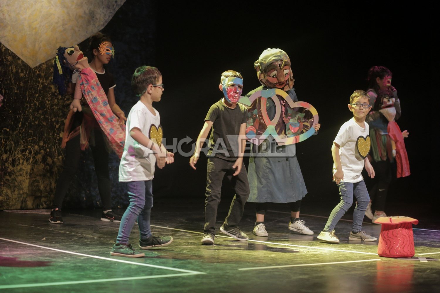
[[[164,90],[161,73],[155,67],[141,66],[132,76],[132,87],[140,98],[127,117],[125,147],[119,164],[119,181],[127,182],[130,204],[122,216],[116,244],[110,255],[143,257],[144,253],[128,244],[136,218],[141,249],[166,246],[172,242],[171,236],[151,234],[150,212],[153,206],[154,164],[161,169],[165,164],[174,162],[174,154],[167,152],[162,144],[159,112],[152,105],[161,100]]]

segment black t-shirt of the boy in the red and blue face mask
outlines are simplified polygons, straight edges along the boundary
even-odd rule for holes
[[[238,134],[240,126],[246,123],[247,108],[237,103],[234,109],[228,108],[222,100],[209,108],[206,120],[213,122],[209,137],[208,156],[236,160],[238,158]]]

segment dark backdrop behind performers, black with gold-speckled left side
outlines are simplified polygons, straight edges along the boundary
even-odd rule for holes
[[[338,195],[331,181],[332,141],[342,123],[352,117],[347,109],[350,94],[367,88],[366,75],[371,66],[384,65],[393,72],[392,85],[398,90],[402,105],[398,123],[402,130],[410,132],[405,142],[412,172],[410,177],[393,181],[388,206],[398,203],[432,213],[438,202],[433,193],[438,147],[431,117],[436,114],[430,111],[435,109],[431,105],[435,100],[430,99],[432,4],[381,4],[383,10],[378,12],[379,7],[374,5],[305,7],[287,3],[278,8],[264,2],[225,7],[221,3],[190,6],[171,1],[127,0],[103,29],[116,48],[116,58],[107,69],[116,77],[118,104],[128,114],[137,100],[130,87],[132,72],[140,65],[156,66],[163,75],[165,91],[154,107],[161,113],[165,138],[190,137],[194,141],[209,106],[222,97],[217,87],[221,72],[241,72],[245,94],[260,85],[253,69],[260,53],[268,47],[281,48],[290,56],[299,100],[314,105],[321,123],[317,136],[297,145],[309,192],[304,202],[333,205]],[[5,100],[0,108],[0,209],[48,208],[61,172],[59,133],[70,98],[60,98],[51,87],[51,61],[32,70],[3,45],[1,54],[0,94]],[[40,91],[41,85],[28,82],[36,74],[44,83],[44,92]],[[36,107],[32,111],[31,102],[26,100],[28,104],[24,104],[22,98],[29,92],[37,101],[37,105],[32,104]],[[23,127],[23,121],[32,119],[36,121],[27,123],[26,131],[19,129],[20,122]],[[43,126],[43,121],[51,121],[51,125]],[[39,153],[37,160],[26,151],[27,145],[48,151]],[[189,149],[188,146],[186,150]],[[86,151],[83,158],[65,206],[100,204],[90,152]],[[188,161],[189,157],[176,154],[174,164],[156,170],[157,199],[194,200],[203,205],[206,158],[199,160],[196,171]],[[41,168],[37,173],[36,166]],[[125,186],[117,182],[117,166],[117,157],[112,154],[112,196],[115,206],[123,207],[127,196]],[[25,167],[30,171],[22,175]],[[22,181],[15,180],[17,177]],[[225,194],[231,196],[231,191],[225,188]]]

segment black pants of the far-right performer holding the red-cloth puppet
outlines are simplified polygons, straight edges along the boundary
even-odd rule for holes
[[[389,161],[371,162],[374,169],[373,186],[369,190],[373,210],[385,210],[385,201],[388,195],[389,184],[392,180],[391,163]]]

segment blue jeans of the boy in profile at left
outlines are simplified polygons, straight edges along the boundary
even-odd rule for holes
[[[128,237],[135,224],[136,218],[139,225],[141,240],[146,240],[151,236],[150,213],[153,207],[153,181],[132,181],[127,182],[128,198],[130,204],[122,215],[119,224],[119,233],[116,242],[128,244]]]

